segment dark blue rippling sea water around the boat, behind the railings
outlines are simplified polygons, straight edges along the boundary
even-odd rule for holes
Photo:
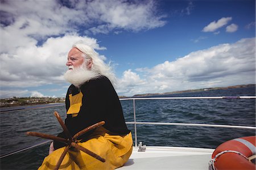
[[[208,90],[161,97],[255,96],[255,87]],[[155,96],[157,97],[157,96]],[[126,122],[134,122],[133,101],[121,101]],[[51,105],[47,105],[51,106]],[[46,139],[27,136],[27,131],[57,135],[62,131],[54,111],[65,119],[63,103],[0,113],[0,154],[34,146]],[[36,109],[39,108],[39,109]],[[136,100],[137,122],[207,123],[255,127],[255,99],[147,99]],[[10,110],[13,110],[10,108]],[[134,125],[127,125],[134,134]],[[147,146],[216,148],[226,140],[255,135],[255,130],[216,127],[137,125],[138,142]],[[133,136],[134,137],[134,136]],[[1,169],[37,169],[48,155],[49,142],[3,157]]]

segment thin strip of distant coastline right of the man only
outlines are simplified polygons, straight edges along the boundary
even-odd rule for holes
[[[193,92],[204,92],[208,90],[220,90],[220,89],[225,90],[225,89],[249,88],[249,87],[256,87],[256,84],[234,85],[234,86],[217,87],[217,88],[191,89],[191,90],[181,90],[181,91],[166,92],[166,93],[135,94],[132,97],[162,96],[162,95],[168,95],[168,94],[193,93]],[[131,98],[131,97],[120,96],[119,98]]]

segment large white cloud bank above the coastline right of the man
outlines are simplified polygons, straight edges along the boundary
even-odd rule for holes
[[[120,80],[123,82],[119,86],[120,95],[255,83],[255,38],[220,44],[191,52],[175,61],[165,61],[153,68],[136,70],[139,73],[124,72],[127,76]],[[131,75],[137,79],[130,79]],[[134,80],[143,83],[136,84]]]

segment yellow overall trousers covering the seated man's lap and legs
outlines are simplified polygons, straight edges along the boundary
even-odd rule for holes
[[[131,132],[125,136],[111,135],[104,127],[98,127],[90,135],[89,140],[78,144],[100,155],[106,161],[102,163],[100,160],[72,148],[65,155],[59,169],[115,169],[126,163],[133,150]],[[39,169],[54,169],[64,149],[65,147],[59,148],[45,157]]]

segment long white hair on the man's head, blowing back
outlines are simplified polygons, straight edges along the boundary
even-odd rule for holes
[[[113,69],[110,64],[105,64],[102,59],[98,56],[98,53],[94,51],[92,47],[88,45],[77,43],[73,45],[73,48],[79,49],[82,53],[84,53],[84,59],[87,63],[89,60],[92,60],[91,71],[98,73],[99,75],[106,76],[112,82],[113,86],[116,85],[115,74],[113,73]]]

